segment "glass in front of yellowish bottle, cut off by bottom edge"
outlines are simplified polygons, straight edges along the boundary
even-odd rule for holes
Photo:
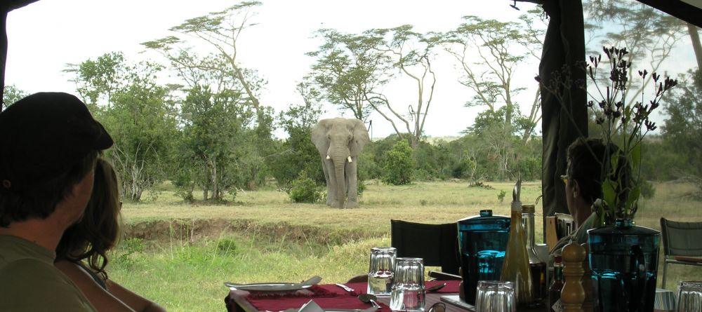
[[[475,295],[475,312],[515,312],[517,303],[512,282],[479,280]]]

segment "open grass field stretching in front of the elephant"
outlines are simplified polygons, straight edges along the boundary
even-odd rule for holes
[[[509,215],[513,184],[490,185],[494,189],[465,182],[370,183],[353,210],[294,204],[274,189],[239,191],[227,205],[188,205],[164,186],[155,200],[125,203],[126,239],[112,252],[108,273],[168,311],[225,311],[225,281],[294,282],[319,275],[322,283],[339,283],[364,273],[370,248],[390,245],[390,219],[456,222],[481,209]],[[534,203],[540,189],[541,182],[523,184],[522,202]],[[691,190],[688,184],[656,184],[637,224],[660,229],[660,217],[702,221],[700,202],[684,196]],[[540,241],[540,205],[536,211]],[[668,289],[683,278],[702,280],[702,269],[690,268],[669,266]]]

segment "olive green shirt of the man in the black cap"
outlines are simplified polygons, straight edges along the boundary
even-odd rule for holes
[[[53,266],[55,252],[0,235],[0,311],[96,312],[78,287]]]

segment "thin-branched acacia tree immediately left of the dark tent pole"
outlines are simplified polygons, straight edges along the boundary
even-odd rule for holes
[[[505,107],[503,125],[508,132],[514,130],[515,118],[522,118],[515,114],[518,111],[515,95],[525,88],[513,85],[515,70],[529,60],[539,60],[536,52],[541,48],[545,31],[534,20],[536,12],[522,15],[522,22],[464,16],[464,22],[442,38],[444,50],[461,68],[463,75],[459,82],[474,93],[465,106],[485,106],[493,112]],[[522,135],[524,142],[529,140],[541,119],[540,107],[541,97],[536,90],[528,116],[529,126]]]

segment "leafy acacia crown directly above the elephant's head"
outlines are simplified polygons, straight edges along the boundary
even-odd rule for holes
[[[390,58],[373,49],[377,44],[375,38],[343,34],[334,29],[319,29],[316,36],[323,43],[307,53],[317,58],[308,79],[320,90],[322,98],[366,121],[373,110],[371,101],[377,101],[380,90],[390,79]]]

